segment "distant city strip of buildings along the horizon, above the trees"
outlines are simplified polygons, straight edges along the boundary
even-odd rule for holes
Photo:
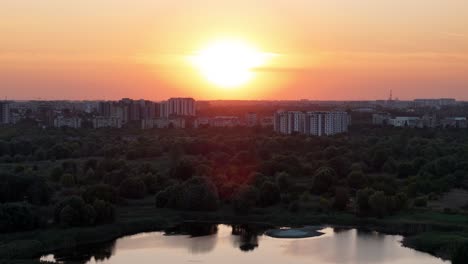
[[[258,126],[281,134],[329,136],[347,132],[354,119],[377,126],[468,128],[465,106],[452,98],[400,101],[391,96],[376,101],[0,101],[0,124],[44,129]],[[241,110],[226,114],[235,108]]]

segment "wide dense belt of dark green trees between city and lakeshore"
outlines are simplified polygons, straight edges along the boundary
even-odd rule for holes
[[[260,128],[2,128],[0,232],[111,223],[116,207],[149,197],[184,211],[386,218],[466,188],[467,174],[462,130],[360,127],[319,138]]]

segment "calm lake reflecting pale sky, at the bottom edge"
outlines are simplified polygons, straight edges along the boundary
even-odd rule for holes
[[[184,224],[42,257],[59,263],[450,263],[401,245],[401,236],[326,227],[318,237],[281,239],[257,225]]]

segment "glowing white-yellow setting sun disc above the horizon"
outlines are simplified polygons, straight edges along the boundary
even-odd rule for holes
[[[254,69],[272,56],[241,40],[218,40],[191,56],[190,61],[209,82],[235,88],[249,82]]]

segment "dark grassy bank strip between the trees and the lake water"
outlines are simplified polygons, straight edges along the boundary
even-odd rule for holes
[[[404,213],[386,219],[377,219],[358,218],[344,213],[315,214],[301,212],[293,214],[284,212],[281,208],[259,209],[249,215],[236,215],[227,208],[216,212],[181,212],[155,209],[151,206],[132,206],[118,208],[117,221],[110,225],[71,229],[51,228],[31,232],[3,234],[0,236],[0,263],[14,263],[11,260],[19,259],[24,259],[24,261],[34,260],[43,254],[57,250],[108,242],[122,236],[141,232],[164,230],[184,221],[227,224],[267,223],[278,227],[312,225],[358,227],[382,233],[409,236],[405,239],[405,246],[428,252],[444,259],[450,259],[450,254],[454,250],[438,251],[425,246],[426,244],[431,244],[430,241],[435,241],[440,236],[434,235],[417,239],[418,236],[430,232],[438,232],[435,234],[450,234],[468,230],[466,216],[445,215],[429,211]],[[418,244],[412,243],[412,241],[424,241],[426,243]],[[447,242],[441,240],[441,248]]]

